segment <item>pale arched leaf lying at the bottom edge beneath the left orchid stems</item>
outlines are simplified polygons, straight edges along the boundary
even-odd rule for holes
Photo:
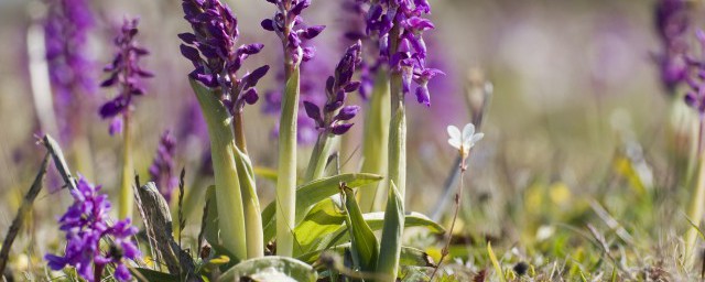
[[[263,257],[240,262],[220,275],[218,281],[238,281],[250,278],[261,282],[314,282],[318,278],[308,264],[286,257]]]

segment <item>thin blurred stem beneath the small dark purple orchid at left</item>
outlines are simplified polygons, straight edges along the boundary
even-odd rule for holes
[[[134,205],[134,196],[132,192],[132,134],[130,128],[130,115],[126,112],[122,117],[122,185],[120,187],[120,207],[118,216],[120,219],[132,218],[132,206]]]

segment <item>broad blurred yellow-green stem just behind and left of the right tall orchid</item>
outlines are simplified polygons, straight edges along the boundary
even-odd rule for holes
[[[375,89],[370,97],[369,109],[365,118],[365,139],[362,140],[361,172],[384,175],[387,167],[389,120],[389,75],[379,69],[375,78]],[[362,213],[381,210],[384,196],[384,182],[369,184],[359,189]]]

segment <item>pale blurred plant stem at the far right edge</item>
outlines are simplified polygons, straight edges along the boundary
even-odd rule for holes
[[[702,132],[702,128],[703,128],[703,120],[701,119],[699,121],[699,129],[697,130],[697,132]],[[703,135],[698,135],[696,138],[697,142],[698,142],[698,148],[699,148],[699,143],[703,141]],[[699,164],[698,164],[698,173],[697,173],[697,182],[695,183],[695,193],[692,195],[691,197],[691,205],[688,208],[688,213],[687,213],[687,217],[690,218],[690,220],[695,225],[694,227],[688,228],[686,235],[685,235],[685,256],[686,256],[686,265],[687,267],[692,267],[693,263],[695,262],[695,259],[697,258],[697,236],[698,236],[698,230],[696,228],[699,228],[701,225],[701,220],[703,219],[703,205],[705,204],[705,154],[698,150],[697,154],[698,160],[699,160]]]

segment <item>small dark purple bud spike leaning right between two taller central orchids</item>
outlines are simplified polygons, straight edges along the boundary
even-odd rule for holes
[[[348,93],[356,91],[360,87],[359,82],[352,82],[355,68],[360,64],[361,43],[358,41],[348,47],[345,55],[335,68],[335,76],[326,80],[327,102],[321,108],[311,101],[304,101],[306,115],[316,122],[319,130],[332,134],[341,135],[347,132],[352,123],[345,123],[360,110],[358,106],[343,106]]]

